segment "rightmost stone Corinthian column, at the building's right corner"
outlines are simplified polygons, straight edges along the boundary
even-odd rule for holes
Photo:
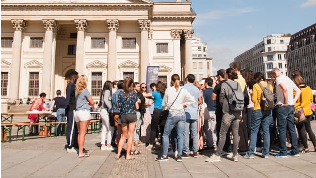
[[[192,73],[192,44],[193,30],[183,30],[186,54],[185,54],[185,75]]]

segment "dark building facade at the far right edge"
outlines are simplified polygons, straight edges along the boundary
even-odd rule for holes
[[[291,36],[286,56],[289,74],[300,70],[307,85],[316,89],[316,23]]]

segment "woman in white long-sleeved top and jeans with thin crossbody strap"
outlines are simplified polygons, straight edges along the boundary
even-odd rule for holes
[[[190,104],[195,103],[195,99],[191,94],[184,88],[180,87],[180,76],[173,74],[171,76],[171,86],[166,89],[163,97],[162,107],[169,110],[168,118],[164,127],[163,132],[163,151],[162,156],[158,157],[156,161],[168,161],[168,146],[169,146],[169,135],[174,125],[177,124],[177,135],[178,135],[178,155],[176,159],[178,162],[182,161],[181,155],[184,145],[184,129],[186,124],[186,114],[184,108]],[[187,100],[187,102],[184,102]]]

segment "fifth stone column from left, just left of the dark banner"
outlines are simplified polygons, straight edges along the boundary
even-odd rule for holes
[[[150,20],[138,20],[141,45],[140,45],[140,59],[139,59],[139,83],[146,83],[147,66],[149,65],[148,55],[148,31],[150,30]]]

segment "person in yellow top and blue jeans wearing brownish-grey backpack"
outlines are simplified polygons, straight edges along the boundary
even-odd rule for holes
[[[254,159],[257,134],[260,125],[262,126],[264,138],[264,148],[262,151],[262,156],[264,158],[269,157],[269,125],[272,120],[271,110],[274,108],[273,87],[272,85],[269,85],[269,83],[265,82],[264,76],[261,72],[255,73],[254,81],[256,82],[256,84],[253,85],[251,96],[251,101],[254,103],[254,107],[251,123],[248,123],[251,124],[250,146],[247,154],[243,156],[243,158],[246,159]]]

